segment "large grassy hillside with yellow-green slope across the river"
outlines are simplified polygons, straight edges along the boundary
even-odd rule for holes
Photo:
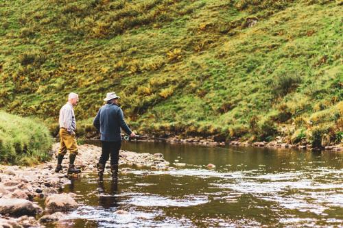
[[[115,91],[139,132],[339,141],[342,19],[328,0],[0,0],[0,107],[54,127],[75,91],[84,134]]]

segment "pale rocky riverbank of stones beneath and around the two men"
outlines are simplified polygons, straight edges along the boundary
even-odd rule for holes
[[[78,177],[96,173],[101,148],[84,144],[79,149],[75,164],[82,168],[82,173]],[[51,161],[38,166],[0,166],[0,228],[44,227],[62,219],[64,212],[78,207],[74,194],[59,194],[70,180],[66,175],[68,159],[62,163],[64,169],[54,173],[56,158],[53,154],[57,150],[58,144],[54,144]],[[119,157],[121,173],[130,168],[169,169],[169,162],[161,153],[120,151]],[[38,199],[45,200],[44,208],[36,203]]]

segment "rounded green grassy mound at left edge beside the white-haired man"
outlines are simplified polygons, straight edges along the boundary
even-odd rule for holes
[[[52,138],[36,119],[0,111],[0,163],[32,165],[49,159]]]

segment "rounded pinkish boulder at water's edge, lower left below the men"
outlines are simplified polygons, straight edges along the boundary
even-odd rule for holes
[[[64,212],[78,207],[78,203],[69,194],[51,194],[45,200],[45,209],[52,212]]]

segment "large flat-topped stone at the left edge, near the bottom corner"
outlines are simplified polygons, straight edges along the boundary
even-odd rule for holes
[[[0,214],[33,216],[37,212],[37,207],[26,199],[0,199]]]

